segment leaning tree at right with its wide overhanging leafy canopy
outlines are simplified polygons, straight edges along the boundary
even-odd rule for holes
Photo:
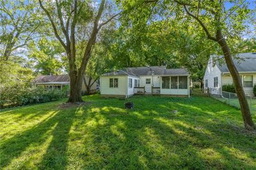
[[[146,4],[146,5],[141,5]],[[127,27],[135,27],[135,30],[147,31],[147,25],[159,20],[175,24],[177,29],[186,29],[188,25],[194,26],[198,32],[204,31],[204,40],[218,44],[221,54],[227,63],[230,74],[236,86],[237,97],[241,105],[244,127],[248,130],[255,128],[250,114],[250,109],[243,90],[242,82],[234,66],[233,58],[236,58],[234,43],[243,37],[254,20],[255,13],[248,7],[245,1],[127,1],[122,2],[123,8],[137,6],[136,12],[127,15],[124,24]],[[141,7],[140,7],[141,6]],[[184,15],[185,14],[185,15]],[[179,35],[177,35],[179,36]],[[212,46],[205,50],[211,49]],[[214,52],[220,54],[220,52]],[[220,55],[219,55],[220,56]],[[220,59],[220,58],[216,58]]]

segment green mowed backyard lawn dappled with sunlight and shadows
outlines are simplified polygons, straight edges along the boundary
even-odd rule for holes
[[[2,111],[1,168],[256,169],[255,134],[218,100],[137,96],[131,110],[125,100],[84,100]]]

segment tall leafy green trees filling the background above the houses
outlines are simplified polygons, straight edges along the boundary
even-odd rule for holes
[[[0,6],[2,86],[68,73],[68,102],[81,102],[83,74],[92,80],[118,68],[166,63],[202,82],[209,56],[217,54],[234,79],[244,125],[254,128],[232,61],[256,51],[250,2],[1,0]]]

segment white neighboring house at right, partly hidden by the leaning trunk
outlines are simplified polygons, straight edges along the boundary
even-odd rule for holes
[[[253,96],[253,86],[256,85],[256,53],[237,54],[241,60],[234,60],[235,66],[243,82],[244,93]],[[212,61],[210,57],[204,75],[204,88],[211,88],[211,93],[220,95],[221,87],[233,84],[233,79],[226,64]]]

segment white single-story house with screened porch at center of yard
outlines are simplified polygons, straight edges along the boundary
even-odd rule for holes
[[[184,68],[166,66],[124,68],[100,76],[100,94],[125,98],[134,94],[189,97],[189,73]]]

